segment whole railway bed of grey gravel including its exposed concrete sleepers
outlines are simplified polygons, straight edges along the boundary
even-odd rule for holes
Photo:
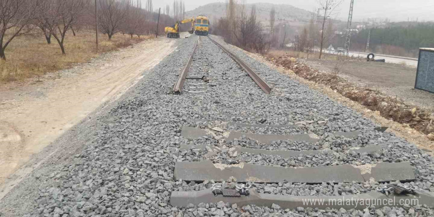
[[[210,38],[197,39],[180,39],[125,99],[77,127],[65,144],[82,152],[53,155],[0,207],[29,209],[10,216],[434,216],[431,156],[225,46],[266,79],[264,94]],[[209,82],[179,83],[185,60],[178,80]],[[175,82],[181,95],[167,92]]]

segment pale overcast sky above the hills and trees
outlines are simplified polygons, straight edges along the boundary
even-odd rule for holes
[[[143,0],[145,5],[145,0]],[[184,0],[186,10],[192,10],[201,5],[212,2],[224,2],[224,0]],[[247,3],[269,2],[274,4],[290,4],[302,9],[313,11],[318,8],[318,0],[247,0]],[[172,5],[173,0],[153,0],[154,10],[158,7],[165,8],[166,4]],[[350,9],[350,0],[343,0],[337,9],[336,18],[346,20]],[[434,21],[432,16],[434,0],[355,0],[355,21],[364,18],[389,18],[392,21]]]

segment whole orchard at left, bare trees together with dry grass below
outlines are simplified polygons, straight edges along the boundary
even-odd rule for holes
[[[184,14],[181,0],[161,11],[152,0],[144,7],[141,0],[0,0],[0,83],[86,62],[154,37],[157,29],[163,35]]]

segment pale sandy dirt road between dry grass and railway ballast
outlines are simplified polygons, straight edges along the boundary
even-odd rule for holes
[[[33,154],[125,93],[175,50],[174,44],[165,37],[146,40],[51,73],[41,82],[0,86],[0,199],[33,170],[22,167]]]

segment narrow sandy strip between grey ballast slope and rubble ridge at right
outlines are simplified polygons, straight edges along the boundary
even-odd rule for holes
[[[246,52],[246,51],[245,51]],[[308,85],[310,88],[319,91],[320,93],[325,94],[330,99],[347,106],[348,108],[354,109],[358,112],[360,112],[363,117],[370,119],[377,123],[380,126],[387,126],[389,129],[388,132],[394,133],[398,137],[401,137],[405,140],[407,140],[410,143],[413,143],[417,145],[419,148],[427,151],[429,154],[433,155],[434,150],[434,142],[430,141],[427,137],[427,135],[411,128],[405,124],[400,124],[398,122],[395,122],[393,120],[389,120],[387,118],[384,118],[379,111],[372,111],[370,109],[367,109],[362,104],[355,102],[347,97],[342,96],[342,94],[338,93],[336,90],[331,89],[329,86],[324,84],[319,84],[307,79],[304,79],[297,74],[295,74],[293,71],[288,70],[284,67],[277,66],[275,64],[270,63],[267,59],[265,59],[263,56],[260,56],[258,54],[253,54],[246,52],[249,56],[252,58],[266,64],[272,69],[277,70],[278,72],[281,72],[283,74],[288,75],[290,78],[297,80],[298,82]]]

